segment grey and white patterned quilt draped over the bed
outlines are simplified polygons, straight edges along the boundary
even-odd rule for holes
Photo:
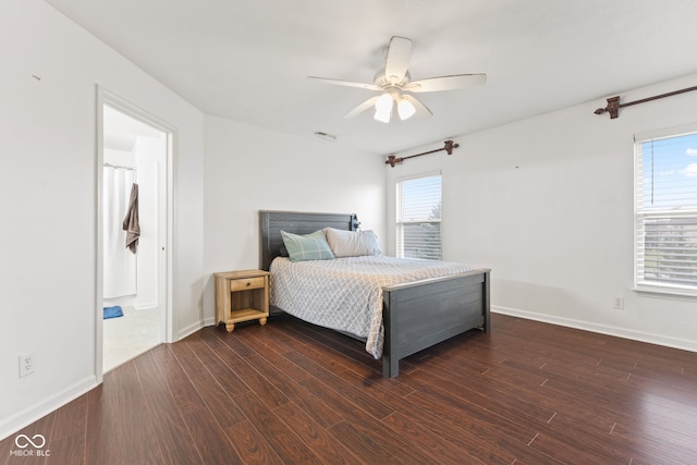
[[[269,279],[270,304],[305,321],[366,339],[382,356],[382,287],[470,271],[450,261],[384,256],[291,261],[277,257]]]

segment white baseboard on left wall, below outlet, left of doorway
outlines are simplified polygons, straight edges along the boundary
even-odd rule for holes
[[[89,376],[82,381],[78,381],[64,390],[57,392],[48,399],[41,402],[30,405],[9,418],[0,420],[0,440],[10,437],[12,433],[21,430],[22,428],[32,425],[34,421],[45,417],[51,412],[57,411],[69,402],[74,401],[87,391],[95,389],[98,386],[97,378]],[[48,431],[32,431],[36,435],[48,436]]]

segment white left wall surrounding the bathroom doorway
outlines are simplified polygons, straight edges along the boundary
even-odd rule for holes
[[[99,379],[97,84],[176,127],[178,336],[198,328],[203,313],[204,118],[40,0],[0,3],[0,57],[3,438]],[[36,372],[20,379],[17,357],[29,352]]]

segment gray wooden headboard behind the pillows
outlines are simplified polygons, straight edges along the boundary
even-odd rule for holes
[[[322,228],[343,231],[358,229],[355,213],[310,213],[301,211],[259,211],[259,266],[269,270],[271,261],[281,255],[281,230],[294,234],[309,234]]]

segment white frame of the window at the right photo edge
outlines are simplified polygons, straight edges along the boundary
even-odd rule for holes
[[[650,140],[670,139],[697,134],[697,124],[636,134],[634,137],[634,290],[677,297],[697,297],[697,284],[687,285],[647,279],[645,274],[646,224],[648,222],[676,219],[697,220],[697,206],[681,205],[678,208],[644,208],[644,159],[641,144]],[[697,147],[696,147],[697,148]],[[695,159],[697,163],[697,158]],[[696,252],[697,254],[697,252]]]

